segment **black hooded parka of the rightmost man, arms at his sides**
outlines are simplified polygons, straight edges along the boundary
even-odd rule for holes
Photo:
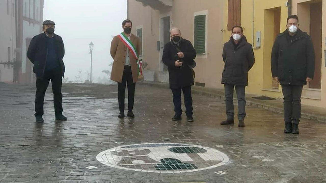
[[[294,36],[286,30],[274,42],[271,56],[272,76],[281,85],[306,85],[314,77],[315,52],[311,38],[298,29]]]

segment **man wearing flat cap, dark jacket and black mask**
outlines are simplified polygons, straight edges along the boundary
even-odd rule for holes
[[[45,91],[49,81],[52,83],[55,120],[63,121],[67,118],[62,115],[62,77],[65,73],[63,57],[65,47],[62,38],[54,34],[55,23],[50,20],[43,21],[43,31],[32,38],[27,50],[28,59],[34,64],[33,72],[36,74],[35,118],[36,122],[44,122],[43,103]]]

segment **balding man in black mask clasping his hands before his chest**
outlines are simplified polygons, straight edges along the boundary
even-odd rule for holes
[[[180,29],[170,30],[171,41],[164,46],[163,63],[169,69],[170,89],[173,94],[175,115],[172,120],[181,120],[181,90],[185,97],[187,121],[194,121],[191,86],[194,85],[193,72],[189,67],[196,58],[196,51],[191,42],[181,37]]]

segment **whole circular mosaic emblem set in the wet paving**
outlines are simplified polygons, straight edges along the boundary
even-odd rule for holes
[[[154,173],[195,172],[229,162],[229,157],[216,149],[175,143],[118,146],[100,152],[96,159],[115,168]]]

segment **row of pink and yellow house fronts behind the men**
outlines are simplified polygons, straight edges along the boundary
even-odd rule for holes
[[[283,98],[281,86],[271,74],[271,50],[275,37],[286,30],[288,14],[299,16],[299,28],[311,35],[316,52],[314,81],[304,87],[302,104],[326,109],[326,0],[127,0],[127,17],[133,21],[133,34],[141,36],[142,59],[147,80],[168,82],[162,51],[170,41],[169,29],[179,27],[182,36],[195,49],[196,34],[203,34],[197,54],[195,85],[223,89],[223,43],[231,27],[241,25],[254,47],[255,64],[248,73],[246,93]],[[203,18],[196,24],[197,19]],[[201,26],[196,29],[196,25]],[[200,38],[200,37],[197,37]],[[146,79],[146,78],[145,78]]]

